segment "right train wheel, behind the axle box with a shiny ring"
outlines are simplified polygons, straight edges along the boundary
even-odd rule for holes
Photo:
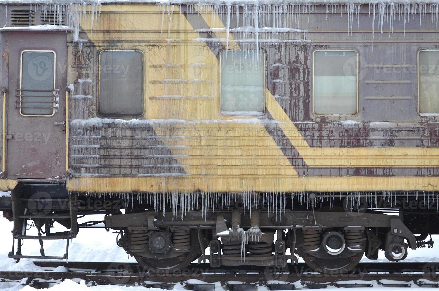
[[[344,235],[335,231],[323,235],[304,231],[301,240],[298,251],[306,265],[324,274],[348,273],[360,262],[366,249],[366,234],[359,230]]]

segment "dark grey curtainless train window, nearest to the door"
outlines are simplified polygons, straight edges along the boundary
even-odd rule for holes
[[[143,55],[133,50],[106,50],[99,54],[99,113],[143,113]]]

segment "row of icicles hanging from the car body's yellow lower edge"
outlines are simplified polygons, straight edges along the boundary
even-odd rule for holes
[[[210,212],[217,209],[231,210],[236,205],[242,208],[243,215],[251,217],[252,209],[266,209],[268,213],[275,214],[276,221],[281,221],[282,215],[285,215],[287,209],[287,200],[291,200],[291,211],[294,211],[295,203],[298,201],[299,206],[305,204],[306,209],[311,209],[308,192],[285,193],[285,192],[265,192],[257,193],[255,191],[243,191],[241,193],[214,193],[214,192],[171,192],[171,193],[89,193],[90,196],[97,198],[113,197],[123,200],[124,207],[133,208],[134,203],[147,204],[155,212],[165,216],[166,211],[172,211],[172,219],[183,219],[188,211],[201,210],[202,217],[206,218]],[[349,192],[349,193],[320,193],[317,195],[313,205],[315,207],[329,206],[329,210],[334,208],[335,199],[345,203],[346,213],[357,213],[366,209],[377,207],[378,199],[387,201],[394,205],[395,201],[404,198],[405,202],[414,201],[419,204],[421,201],[427,202],[428,208],[435,207],[439,214],[439,193],[437,192],[400,192],[400,191],[367,191],[367,192]],[[292,198],[292,199],[291,199]],[[297,202],[296,202],[297,203]],[[201,204],[201,205],[199,205]],[[434,204],[434,205],[433,205]],[[404,207],[404,205],[401,205]],[[200,209],[201,208],[201,209]]]

